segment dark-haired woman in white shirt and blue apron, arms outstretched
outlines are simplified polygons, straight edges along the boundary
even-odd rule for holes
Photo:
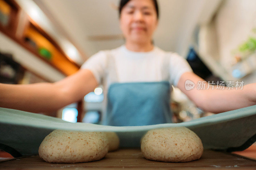
[[[182,57],[151,43],[158,24],[156,0],[121,0],[119,16],[125,45],[96,53],[76,74],[55,83],[0,84],[0,107],[57,110],[80,100],[99,84],[107,96],[103,124],[114,126],[170,122],[170,84],[205,111],[219,113],[256,104],[256,83],[242,90],[185,89],[187,80],[195,87],[204,80]]]

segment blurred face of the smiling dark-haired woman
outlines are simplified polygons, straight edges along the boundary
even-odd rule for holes
[[[126,41],[150,42],[157,23],[152,0],[130,0],[121,11],[120,28]]]

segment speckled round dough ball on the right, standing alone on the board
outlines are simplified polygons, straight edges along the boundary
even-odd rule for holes
[[[201,139],[186,127],[152,129],[140,148],[146,159],[164,162],[188,162],[203,154]]]

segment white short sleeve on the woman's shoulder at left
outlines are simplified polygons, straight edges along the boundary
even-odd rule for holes
[[[101,80],[106,70],[106,54],[104,51],[100,51],[92,55],[88,60],[84,62],[80,69],[90,70],[97,82],[101,84]]]

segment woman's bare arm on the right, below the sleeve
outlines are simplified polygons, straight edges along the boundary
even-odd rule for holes
[[[193,89],[186,90],[185,82],[187,80],[195,83]],[[197,89],[198,84],[203,82],[202,78],[192,72],[186,72],[181,75],[177,87],[185,93],[198,107],[212,113],[221,113],[229,110],[235,110],[256,104],[256,83],[243,86],[243,89],[213,89],[205,83],[204,89]]]

